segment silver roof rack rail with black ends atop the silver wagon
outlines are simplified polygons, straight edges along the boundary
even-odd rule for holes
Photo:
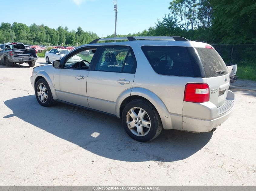
[[[116,38],[98,38],[91,41],[89,44],[95,44],[98,41],[106,41],[106,40],[175,40],[175,41],[188,41],[188,39],[184,37],[116,37]]]

